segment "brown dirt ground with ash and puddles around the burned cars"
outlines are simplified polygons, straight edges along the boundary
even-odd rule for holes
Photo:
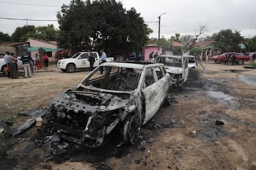
[[[51,67],[52,72],[28,79],[0,77],[2,119],[18,127],[27,119],[18,115],[20,110],[49,106],[52,97],[88,73]],[[170,106],[142,128],[135,146],[118,151],[113,140],[103,149],[83,149],[44,162],[41,148],[34,146],[37,127],[32,127],[15,138],[1,135],[0,169],[256,169],[256,84],[243,76],[255,76],[256,69],[205,67],[198,83],[186,83],[183,92],[172,89]]]

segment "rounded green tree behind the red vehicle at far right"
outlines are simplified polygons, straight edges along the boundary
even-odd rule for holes
[[[240,31],[235,30],[233,32],[230,29],[214,33],[213,39],[215,40],[215,47],[221,49],[222,52],[239,52],[240,43],[243,41]]]

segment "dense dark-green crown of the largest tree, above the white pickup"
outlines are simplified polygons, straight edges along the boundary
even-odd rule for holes
[[[57,13],[59,44],[73,50],[105,49],[112,53],[140,50],[152,30],[135,9],[115,0],[71,1]]]

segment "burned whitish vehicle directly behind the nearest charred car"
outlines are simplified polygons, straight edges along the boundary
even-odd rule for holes
[[[188,58],[177,55],[160,55],[155,63],[165,64],[166,71],[171,75],[171,84],[183,89],[188,78]]]

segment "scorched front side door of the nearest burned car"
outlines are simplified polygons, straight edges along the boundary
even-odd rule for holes
[[[144,123],[150,120],[160,107],[161,97],[159,90],[161,89],[161,84],[157,81],[155,70],[152,68],[146,69],[143,80],[143,89],[141,92],[144,95],[144,110],[145,117]]]

